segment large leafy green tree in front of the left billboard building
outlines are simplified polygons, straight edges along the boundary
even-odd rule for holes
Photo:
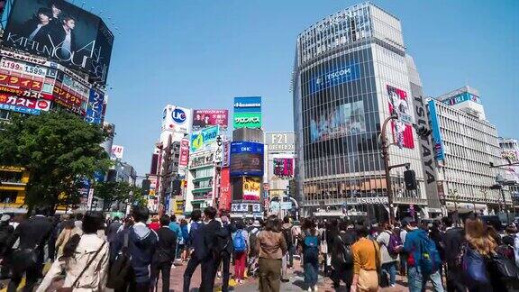
[[[93,178],[111,161],[101,147],[108,133],[62,111],[15,115],[0,128],[0,165],[20,166],[30,172],[25,205],[76,205],[79,178]]]

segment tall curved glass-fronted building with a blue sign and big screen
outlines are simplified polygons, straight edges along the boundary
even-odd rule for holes
[[[399,20],[376,5],[354,5],[297,37],[293,73],[297,199],[304,214],[324,211],[387,217],[387,183],[378,143],[389,123],[390,164],[410,163],[418,189],[406,191],[405,169],[391,171],[400,215],[427,212],[420,143]]]

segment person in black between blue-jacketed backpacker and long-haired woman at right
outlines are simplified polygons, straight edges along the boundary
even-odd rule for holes
[[[467,291],[461,283],[463,270],[458,263],[458,255],[461,246],[465,242],[465,231],[461,227],[452,227],[452,219],[443,217],[442,222],[445,225],[445,234],[443,235],[443,245],[445,252],[445,261],[447,262],[447,291]]]

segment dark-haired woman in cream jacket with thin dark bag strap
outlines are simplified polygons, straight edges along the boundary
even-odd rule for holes
[[[83,235],[75,234],[63,248],[63,254],[54,261],[36,292],[44,291],[105,291],[108,269],[108,244],[97,236],[103,224],[103,214],[89,211],[83,217]],[[61,271],[66,276],[63,287],[52,289],[54,278]]]

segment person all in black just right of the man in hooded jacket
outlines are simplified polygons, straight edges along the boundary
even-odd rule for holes
[[[177,245],[177,234],[169,227],[169,216],[160,217],[160,228],[157,231],[159,243],[151,262],[151,285],[156,285],[159,272],[162,273],[162,292],[169,292],[169,272],[175,260],[175,246]]]

